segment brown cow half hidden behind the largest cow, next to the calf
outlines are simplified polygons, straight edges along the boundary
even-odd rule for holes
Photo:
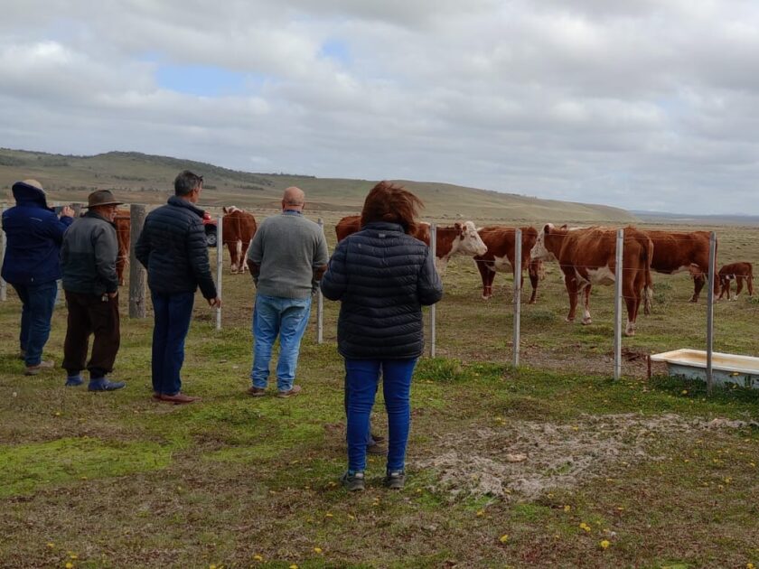
[[[653,241],[651,269],[664,275],[689,271],[693,277],[691,303],[698,303],[698,294],[707,283],[709,274],[709,233],[708,231],[659,231],[650,230],[646,234]],[[717,260],[715,259],[715,262]],[[717,300],[719,277],[714,275],[714,297]]]

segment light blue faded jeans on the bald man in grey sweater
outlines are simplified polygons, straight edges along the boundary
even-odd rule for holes
[[[276,388],[289,391],[295,382],[300,342],[311,314],[311,297],[280,298],[256,295],[253,309],[253,387],[266,388],[269,360],[279,337],[279,360],[276,362]]]

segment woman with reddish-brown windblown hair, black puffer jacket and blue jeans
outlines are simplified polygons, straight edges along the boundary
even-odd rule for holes
[[[384,483],[406,482],[411,374],[424,349],[422,306],[443,296],[429,248],[408,235],[422,202],[402,186],[379,182],[366,197],[361,231],[342,239],[322,279],[322,293],[341,301],[338,351],[345,359],[347,490],[364,490],[367,434],[379,374],[388,412]]]

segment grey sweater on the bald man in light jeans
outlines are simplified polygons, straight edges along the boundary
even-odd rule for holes
[[[294,210],[264,219],[248,249],[248,266],[258,294],[308,298],[316,274],[329,260],[324,232]]]

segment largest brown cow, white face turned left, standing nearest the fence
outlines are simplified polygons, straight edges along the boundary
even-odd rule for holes
[[[635,333],[635,320],[641,301],[646,312],[651,305],[651,257],[654,246],[645,233],[634,228],[624,229],[622,295],[627,306],[626,336]],[[616,270],[616,229],[556,228],[548,223],[538,234],[530,257],[558,261],[569,294],[567,322],[575,320],[577,295],[585,296],[583,324],[591,323],[590,285],[614,283]]]

